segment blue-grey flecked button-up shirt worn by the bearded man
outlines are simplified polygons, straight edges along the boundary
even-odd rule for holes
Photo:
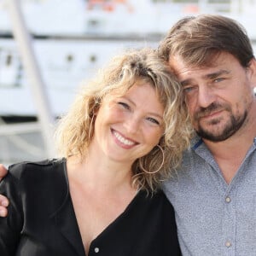
[[[199,139],[164,183],[184,256],[256,256],[256,138],[230,184]]]

